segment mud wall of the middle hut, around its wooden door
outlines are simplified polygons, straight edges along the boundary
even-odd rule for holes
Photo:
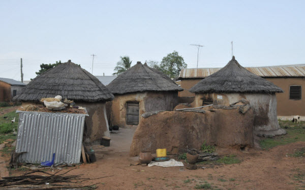
[[[178,102],[177,92],[142,92],[115,94],[111,102],[110,120],[112,125],[118,125],[121,128],[133,128],[137,125],[126,123],[127,102],[139,103],[139,123],[141,115],[145,112],[166,110],[171,111]],[[109,103],[110,104],[110,103]],[[108,105],[108,104],[107,104]]]

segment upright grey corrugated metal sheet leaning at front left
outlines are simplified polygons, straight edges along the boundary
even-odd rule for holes
[[[85,114],[19,112],[16,152],[19,162],[75,164],[80,162]]]

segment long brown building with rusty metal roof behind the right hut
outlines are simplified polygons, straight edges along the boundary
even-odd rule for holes
[[[179,97],[194,97],[190,92],[195,84],[202,79],[219,71],[221,68],[194,68],[182,69],[179,74],[180,86],[184,91],[178,93]],[[305,116],[305,65],[285,65],[270,67],[248,67],[246,68],[267,81],[279,86],[284,93],[277,93],[278,116]]]

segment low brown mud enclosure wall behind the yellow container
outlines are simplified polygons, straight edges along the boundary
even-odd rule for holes
[[[142,118],[130,148],[132,156],[141,151],[166,148],[171,153],[200,149],[203,143],[219,147],[253,147],[253,110],[216,109],[206,113],[166,111]]]

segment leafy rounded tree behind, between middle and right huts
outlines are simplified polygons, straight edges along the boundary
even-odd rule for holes
[[[179,76],[181,69],[187,68],[188,65],[185,63],[183,57],[181,57],[177,51],[174,51],[167,54],[166,57],[163,57],[159,67],[159,71],[170,78],[175,78]]]

